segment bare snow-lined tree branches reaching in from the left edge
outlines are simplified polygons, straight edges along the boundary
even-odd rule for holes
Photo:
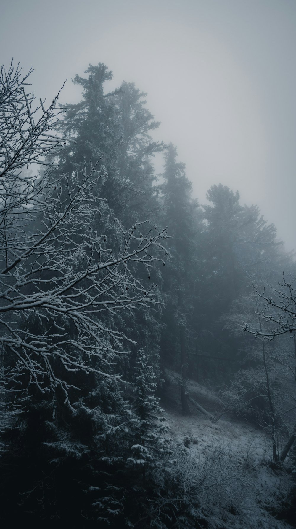
[[[3,372],[6,380],[22,376],[42,391],[60,386],[68,400],[65,371],[114,377],[110,365],[128,338],[108,322],[121,311],[157,303],[153,287],[146,290],[135,271],[144,266],[149,275],[160,260],[151,251],[164,251],[166,233],[149,221],[125,230],[115,219],[112,250],[98,232],[106,201],[96,189],[106,173],[99,162],[81,174],[53,168],[64,143],[53,132],[60,111],[57,98],[47,110],[42,101],[33,108],[34,96],[26,93],[31,71],[22,77],[11,66],[0,76]],[[47,169],[27,176],[32,163]]]

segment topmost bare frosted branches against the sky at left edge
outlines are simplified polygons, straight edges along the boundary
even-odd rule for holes
[[[27,93],[27,87],[30,85],[27,81],[32,71],[31,68],[23,76],[22,69],[19,65],[14,69],[13,62],[8,71],[4,66],[0,70],[0,196],[2,200],[6,190],[11,195],[7,181],[14,186],[18,183],[26,187],[27,181],[22,177],[23,168],[32,163],[52,166],[45,157],[49,154],[53,157],[58,153],[64,141],[54,134],[58,116],[63,112],[58,108],[59,94],[48,108],[44,107],[45,101],[41,99],[40,105],[35,106],[34,94]]]

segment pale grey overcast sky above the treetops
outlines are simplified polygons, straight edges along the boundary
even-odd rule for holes
[[[68,78],[60,101],[80,101],[71,78],[104,62],[110,88],[148,93],[157,138],[177,146],[200,203],[213,184],[238,189],[296,249],[296,0],[0,4],[0,62],[33,65],[37,98]]]

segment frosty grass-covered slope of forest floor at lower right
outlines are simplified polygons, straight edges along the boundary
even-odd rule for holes
[[[296,527],[296,513],[287,507],[295,487],[289,459],[282,469],[270,467],[268,432],[230,415],[213,422],[195,403],[213,417],[219,409],[218,395],[194,381],[188,381],[191,413],[184,416],[179,394],[177,373],[167,371],[160,405],[165,410],[171,437],[186,452],[189,476],[190,472],[195,473],[194,477],[198,474],[200,512],[207,520],[205,526]]]

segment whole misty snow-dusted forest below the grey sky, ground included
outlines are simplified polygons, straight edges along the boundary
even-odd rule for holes
[[[293,253],[239,190],[193,198],[134,83],[48,106],[31,73],[0,74],[2,527],[295,527]]]

